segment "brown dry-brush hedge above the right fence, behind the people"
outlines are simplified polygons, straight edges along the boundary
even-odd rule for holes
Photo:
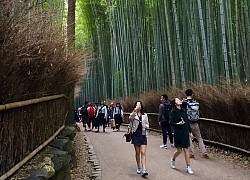
[[[193,98],[200,103],[201,117],[250,125],[250,87],[242,83],[221,83],[217,86],[191,83]],[[144,104],[146,112],[158,112],[160,96],[166,93],[169,99],[185,97],[185,89],[168,88],[162,91],[150,91],[139,97],[121,98],[125,112],[131,112],[135,101]],[[118,100],[117,100],[118,101]]]

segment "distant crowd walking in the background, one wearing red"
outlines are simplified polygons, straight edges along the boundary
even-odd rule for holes
[[[123,123],[123,110],[119,102],[114,105],[113,102],[109,106],[105,104],[105,101],[101,101],[100,104],[84,102],[75,110],[75,120],[83,123],[85,131],[92,131],[94,128],[96,132],[100,132],[99,128],[103,127],[105,132],[106,127],[109,127],[111,122],[111,128],[113,130],[120,130],[120,126]],[[88,130],[87,130],[88,126]]]

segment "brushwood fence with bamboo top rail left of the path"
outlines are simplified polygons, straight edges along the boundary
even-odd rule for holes
[[[0,176],[52,137],[67,113],[64,94],[0,105]]]

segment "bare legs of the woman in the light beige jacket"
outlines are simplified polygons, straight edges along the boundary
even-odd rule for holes
[[[134,145],[135,159],[138,167],[146,169],[146,150],[147,145]]]

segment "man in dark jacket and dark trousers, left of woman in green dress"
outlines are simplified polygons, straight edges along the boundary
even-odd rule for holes
[[[159,125],[162,128],[162,137],[163,144],[160,146],[161,148],[167,149],[167,132],[170,140],[170,147],[174,148],[173,145],[173,134],[171,131],[171,126],[169,124],[169,116],[172,111],[172,106],[168,101],[168,96],[166,94],[161,95],[161,104],[159,106]]]

